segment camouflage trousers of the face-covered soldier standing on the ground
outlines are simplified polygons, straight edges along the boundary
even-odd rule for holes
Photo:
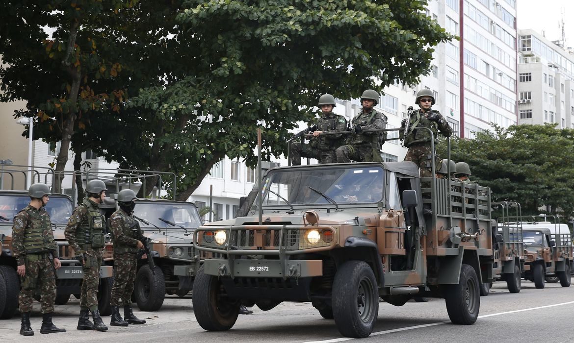
[[[138,262],[134,253],[114,254],[114,286],[111,289],[111,306],[131,305],[131,293],[134,291],[135,272]]]

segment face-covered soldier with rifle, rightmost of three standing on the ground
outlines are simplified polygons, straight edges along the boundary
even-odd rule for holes
[[[134,291],[135,272],[138,269],[137,253],[144,248],[144,235],[138,222],[132,217],[135,208],[135,192],[123,189],[118,193],[118,211],[110,217],[110,230],[114,240],[114,286],[110,305],[113,326],[143,324],[145,320],[135,317],[131,309],[131,293]],[[148,256],[152,258],[152,256]],[[119,314],[119,302],[123,302],[123,318]]]

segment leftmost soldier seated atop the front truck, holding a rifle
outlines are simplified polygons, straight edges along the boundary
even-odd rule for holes
[[[299,142],[291,143],[291,164],[294,166],[301,165],[301,157],[316,158],[319,163],[335,163],[335,149],[339,146],[341,135],[323,135],[323,132],[340,132],[347,128],[347,120],[344,116],[335,114],[335,97],[331,94],[323,94],[319,98],[319,107],[323,116],[313,131],[313,137],[308,144]]]

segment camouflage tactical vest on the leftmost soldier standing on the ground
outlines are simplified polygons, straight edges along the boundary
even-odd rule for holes
[[[26,254],[42,254],[56,250],[52,224],[46,210],[40,208],[39,211],[35,211],[30,206],[26,206],[20,212],[28,213],[30,219],[30,224],[26,228],[24,235],[24,250]]]

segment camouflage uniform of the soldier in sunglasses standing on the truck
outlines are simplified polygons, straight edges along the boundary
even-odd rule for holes
[[[444,137],[451,137],[452,128],[444,119],[443,115],[439,111],[429,110],[432,114],[438,116],[436,120],[430,120],[425,118],[424,112],[421,110],[414,111],[413,114],[408,118],[411,127],[428,127],[433,132],[435,137],[435,145],[439,143],[437,138],[437,130],[444,135]],[[405,127],[405,122],[402,123],[401,127]],[[400,138],[402,139],[404,132],[400,133]],[[405,147],[409,150],[406,152],[405,161],[412,161],[417,163],[420,167],[421,177],[432,177],[432,165],[430,160],[432,159],[432,151],[430,151],[430,134],[427,130],[413,130],[409,137],[406,138]],[[436,156],[435,168],[440,169],[441,159]]]

